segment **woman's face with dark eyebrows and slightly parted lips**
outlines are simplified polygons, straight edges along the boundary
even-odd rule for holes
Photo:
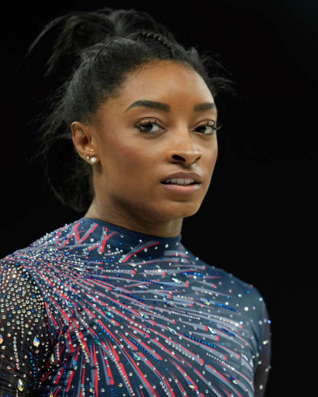
[[[83,128],[100,161],[93,166],[98,203],[149,224],[195,214],[217,158],[212,129],[217,113],[202,77],[169,60],[148,64],[131,73],[122,94],[109,99],[98,114]],[[196,173],[182,178],[201,183],[162,183],[176,179],[169,176],[178,172]]]

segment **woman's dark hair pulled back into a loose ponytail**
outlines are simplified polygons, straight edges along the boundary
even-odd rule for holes
[[[153,60],[171,59],[200,74],[214,99],[220,92],[234,92],[233,81],[219,73],[225,69],[216,54],[200,56],[194,47],[185,49],[146,12],[105,7],[68,13],[45,26],[27,55],[56,29],[59,34],[45,76],[58,75],[63,82],[49,96],[48,109],[41,114],[41,134],[35,138],[37,149],[29,161],[43,161],[54,195],[75,211],[88,210],[94,186],[91,165],[74,147],[71,123],[92,122],[107,99],[120,95],[128,73]]]

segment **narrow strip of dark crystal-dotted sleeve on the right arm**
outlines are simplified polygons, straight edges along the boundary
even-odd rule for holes
[[[262,305],[262,320],[261,325],[261,346],[260,356],[257,359],[257,367],[254,374],[254,397],[264,397],[266,391],[266,385],[269,375],[270,360],[271,360],[271,331],[270,331],[270,320],[268,318],[268,312],[263,301]]]

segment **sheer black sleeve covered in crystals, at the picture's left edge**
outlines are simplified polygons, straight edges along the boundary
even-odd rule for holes
[[[0,260],[0,395],[34,395],[50,338],[44,300],[28,271]]]

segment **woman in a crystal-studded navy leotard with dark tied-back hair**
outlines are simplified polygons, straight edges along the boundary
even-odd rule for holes
[[[144,12],[64,15],[31,50],[59,26],[48,74],[79,61],[38,154],[57,197],[88,210],[1,260],[1,395],[263,396],[263,298],[180,234],[211,181],[228,80]]]

